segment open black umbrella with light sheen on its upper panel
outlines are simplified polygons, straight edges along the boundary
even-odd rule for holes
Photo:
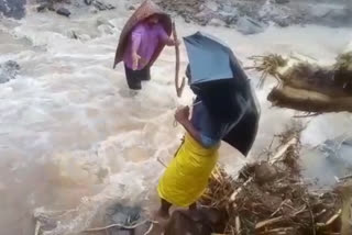
[[[205,102],[215,120],[232,123],[223,141],[246,155],[256,135],[260,111],[245,72],[232,51],[220,40],[198,32],[184,41],[191,90]],[[243,125],[249,133],[243,133]]]

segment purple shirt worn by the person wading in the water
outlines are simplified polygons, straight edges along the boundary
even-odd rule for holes
[[[127,67],[132,69],[132,52],[134,48],[138,55],[141,56],[138,70],[143,69],[150,64],[158,45],[165,45],[167,40],[168,35],[166,34],[162,24],[148,24],[146,22],[139,23],[130,34],[128,48],[123,55],[124,64]]]

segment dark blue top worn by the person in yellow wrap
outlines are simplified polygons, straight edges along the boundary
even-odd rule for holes
[[[223,124],[213,120],[206,105],[198,101],[195,101],[197,104],[194,107],[190,122],[195,128],[200,132],[201,145],[206,148],[210,148],[219,144],[221,138],[228,133],[230,124]]]

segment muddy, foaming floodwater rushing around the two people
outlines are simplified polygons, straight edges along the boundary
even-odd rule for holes
[[[29,9],[21,21],[1,19],[0,64],[21,66],[16,79],[0,85],[0,234],[34,233],[33,210],[67,210],[87,204],[62,228],[75,234],[85,228],[99,205],[118,200],[155,208],[155,188],[163,165],[173,157],[184,130],[174,127],[174,111],[189,104],[174,88],[175,52],[166,48],[152,69],[152,80],[132,96],[122,66],[112,69],[120,31],[131,14],[120,2],[117,10],[77,12],[70,19]],[[352,38],[349,29],[308,25],[270,27],[251,36],[224,27],[200,27],[177,19],[179,35],[198,30],[227,42],[244,65],[249,56],[290,53],[331,64]],[[77,37],[77,38],[75,38]],[[182,46],[182,72],[187,56]],[[253,87],[258,75],[249,72]],[[294,111],[272,108],[266,94],[274,82],[257,91],[262,116],[249,159],[257,156],[292,122]],[[344,157],[331,160],[317,147],[327,139],[349,135],[346,113],[309,121],[302,133],[301,163],[307,178],[334,182],[350,166]],[[160,160],[158,160],[160,159]],[[245,159],[221,147],[221,161],[230,172]],[[341,176],[339,176],[341,177]]]

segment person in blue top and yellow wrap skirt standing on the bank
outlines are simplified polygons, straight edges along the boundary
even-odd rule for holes
[[[199,98],[193,105],[191,118],[189,107],[183,107],[176,111],[175,119],[185,127],[186,134],[160,179],[161,208],[156,219],[168,219],[172,205],[196,209],[216,167],[221,138],[231,125],[215,119]]]

